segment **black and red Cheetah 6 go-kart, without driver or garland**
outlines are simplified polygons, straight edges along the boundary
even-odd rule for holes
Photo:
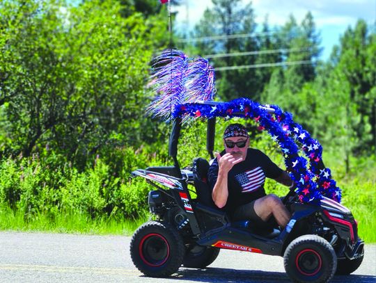
[[[211,107],[219,103],[202,102]],[[207,120],[206,147],[211,158],[215,125],[215,117]],[[130,244],[132,261],[141,273],[166,277],[180,266],[205,268],[221,249],[281,256],[294,282],[327,282],[335,273],[347,275],[360,266],[364,243],[357,234],[357,221],[349,209],[328,197],[302,203],[290,189],[283,203],[292,218],[284,229],[276,224],[258,227],[249,220],[232,221],[212,202],[207,184],[209,162],[198,157],[191,166],[180,168],[181,128],[182,118],[175,118],[169,140],[173,166],[132,172],[156,188],[148,195],[155,220],[141,225]],[[191,197],[191,186],[196,198]]]

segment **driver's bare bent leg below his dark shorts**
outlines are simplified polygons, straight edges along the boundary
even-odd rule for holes
[[[256,214],[263,220],[269,220],[270,216],[276,218],[276,222],[284,228],[291,218],[290,212],[285,208],[281,199],[276,195],[265,195],[256,200],[254,209]]]

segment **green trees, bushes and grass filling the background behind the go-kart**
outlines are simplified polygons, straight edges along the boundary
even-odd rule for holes
[[[191,41],[182,31],[170,37],[159,1],[1,1],[1,229],[129,234],[148,217],[152,188],[130,173],[171,164],[171,124],[145,107],[155,97],[150,62],[172,46],[210,60],[217,100],[248,97],[292,113],[322,144],[360,236],[376,241],[375,25],[359,19],[323,61],[311,13],[271,27],[255,22],[251,3],[213,3],[191,31],[201,40]],[[234,53],[242,56],[224,55]],[[226,123],[217,124],[217,150]],[[284,168],[277,145],[249,127],[252,146]],[[205,124],[185,128],[182,167],[208,158]],[[266,189],[287,193],[273,181]]]

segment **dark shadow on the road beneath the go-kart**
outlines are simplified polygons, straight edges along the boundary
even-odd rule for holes
[[[291,282],[286,273],[230,268],[180,268],[178,273],[175,273],[169,279],[197,282]],[[335,276],[331,282],[375,283],[376,277],[371,275]]]

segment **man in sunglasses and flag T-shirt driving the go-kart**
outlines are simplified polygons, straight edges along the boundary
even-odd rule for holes
[[[242,124],[230,124],[224,131],[224,152],[215,153],[209,169],[212,199],[233,220],[251,220],[266,225],[271,216],[284,228],[290,212],[276,195],[266,195],[265,177],[285,186],[292,180],[258,149],[249,148],[249,135]]]

